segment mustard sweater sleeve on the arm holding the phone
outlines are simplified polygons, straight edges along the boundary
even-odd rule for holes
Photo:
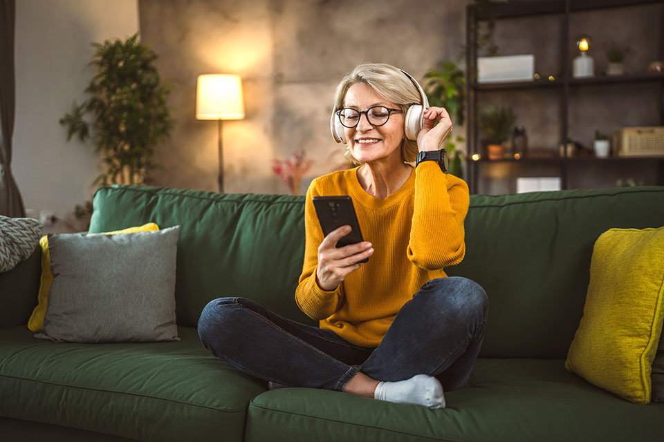
[[[339,309],[344,283],[342,282],[333,291],[326,291],[321,289],[316,282],[318,246],[324,238],[312,200],[318,195],[320,193],[316,180],[313,180],[306,191],[306,201],[304,202],[304,264],[302,274],[299,276],[299,284],[295,289],[295,303],[309,318],[322,320],[329,318]]]

